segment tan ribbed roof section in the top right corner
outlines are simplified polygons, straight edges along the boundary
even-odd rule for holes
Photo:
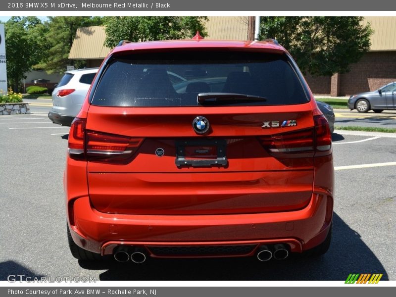
[[[370,23],[371,51],[396,50],[396,16],[365,16],[363,25]]]

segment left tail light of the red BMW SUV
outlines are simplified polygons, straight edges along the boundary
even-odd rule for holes
[[[73,159],[122,162],[141,146],[143,138],[133,138],[87,130],[86,119],[75,118],[69,132],[69,155]]]

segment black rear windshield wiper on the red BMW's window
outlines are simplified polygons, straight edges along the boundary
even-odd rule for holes
[[[265,102],[267,98],[235,93],[199,93],[197,101],[199,104],[233,104],[249,102]]]

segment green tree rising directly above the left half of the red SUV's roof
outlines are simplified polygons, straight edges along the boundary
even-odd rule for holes
[[[204,16],[123,16],[104,17],[106,41],[104,45],[115,47],[120,40],[132,42],[184,39],[197,31],[206,36]]]

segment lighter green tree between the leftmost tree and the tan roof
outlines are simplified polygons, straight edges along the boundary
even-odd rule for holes
[[[70,60],[69,52],[76,36],[77,28],[101,25],[102,18],[87,16],[54,16],[49,17],[46,35],[49,49],[47,58],[38,67],[49,73],[62,73],[67,65],[76,68],[85,66],[85,61]]]

